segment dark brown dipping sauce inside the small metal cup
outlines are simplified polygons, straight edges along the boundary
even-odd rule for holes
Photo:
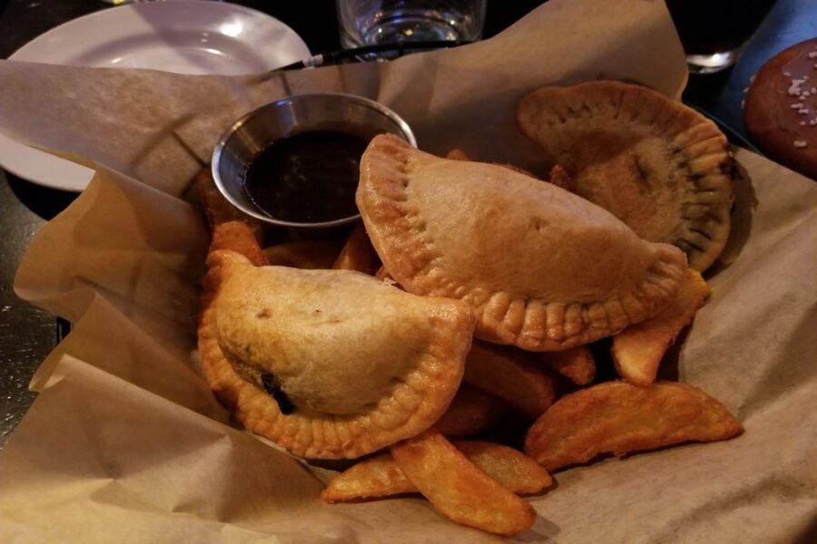
[[[302,132],[251,163],[244,190],[273,219],[323,223],[358,215],[355,190],[368,141],[341,131]]]

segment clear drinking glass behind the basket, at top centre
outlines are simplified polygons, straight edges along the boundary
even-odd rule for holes
[[[482,37],[486,0],[337,0],[340,44],[474,41]]]

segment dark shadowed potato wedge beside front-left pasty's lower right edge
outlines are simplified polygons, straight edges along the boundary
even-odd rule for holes
[[[448,437],[470,436],[497,423],[506,409],[505,403],[497,397],[462,384],[434,428]]]

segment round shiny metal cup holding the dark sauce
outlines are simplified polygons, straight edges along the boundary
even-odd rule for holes
[[[320,223],[286,221],[272,217],[249,198],[244,188],[247,171],[261,151],[275,141],[310,131],[347,132],[365,141],[389,132],[417,146],[406,121],[379,102],[330,92],[290,96],[246,114],[221,136],[212,154],[216,187],[248,216],[279,227],[333,228],[359,219],[360,215],[355,214]]]

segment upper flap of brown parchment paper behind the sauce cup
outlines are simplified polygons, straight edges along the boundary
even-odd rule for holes
[[[180,195],[242,114],[288,94],[350,92],[393,108],[425,150],[460,146],[531,167],[536,146],[517,131],[514,104],[544,83],[599,78],[680,96],[684,55],[660,0],[555,0],[486,42],[299,72],[214,77],[3,61],[0,130]]]

